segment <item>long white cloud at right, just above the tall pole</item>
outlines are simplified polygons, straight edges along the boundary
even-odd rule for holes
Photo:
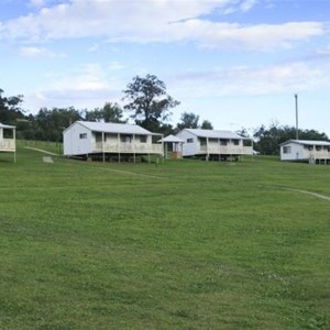
[[[329,72],[330,68],[326,70]],[[293,63],[261,67],[232,67],[194,72],[176,77],[178,95],[185,97],[258,96],[316,90],[329,86],[324,68]]]

